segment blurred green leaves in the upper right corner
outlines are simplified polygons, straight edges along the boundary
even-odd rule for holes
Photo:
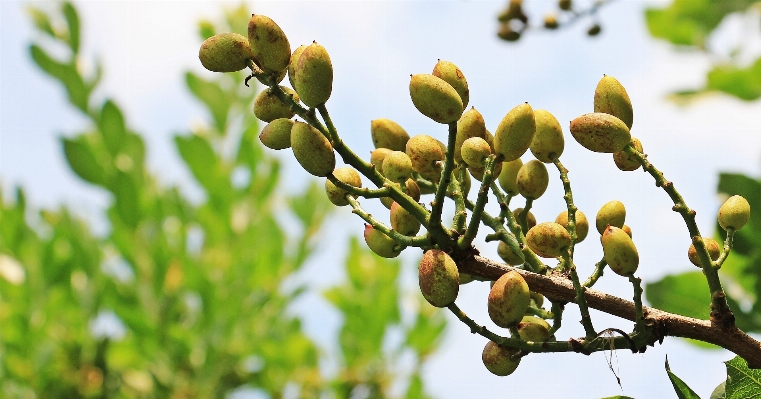
[[[761,97],[761,54],[752,46],[761,34],[761,3],[756,0],[674,0],[663,8],[645,11],[650,34],[676,49],[705,53],[711,60],[702,88],[673,93],[676,101],[722,92],[745,101]],[[734,19],[733,19],[734,18]],[[741,25],[739,41],[728,49],[716,48],[714,39],[723,25]],[[721,51],[726,54],[720,54]]]

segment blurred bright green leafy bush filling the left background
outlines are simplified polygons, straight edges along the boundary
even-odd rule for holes
[[[0,192],[0,396],[219,398],[243,387],[271,398],[389,397],[397,383],[405,397],[425,397],[420,368],[443,315],[416,306],[403,322],[399,262],[356,240],[349,281],[325,293],[343,317],[340,371],[320,368],[325,351],[289,311],[314,287],[281,282],[313,257],[331,205],[314,183],[278,191],[280,166],[257,140],[256,92],[242,72],[185,74],[211,122],[175,136],[204,194],[194,203],[158,183],[117,103],[93,97],[101,68],[81,72],[75,7],[29,11],[42,36],[32,59],[90,124],[61,138],[66,160],[111,203],[98,236],[65,207],[34,212],[23,190]],[[204,21],[200,39],[245,31],[249,15],[239,7],[224,23]],[[52,55],[61,48],[65,59]],[[283,228],[285,215],[294,228]],[[383,347],[393,330],[404,339]],[[398,370],[401,354],[415,359],[410,370]]]

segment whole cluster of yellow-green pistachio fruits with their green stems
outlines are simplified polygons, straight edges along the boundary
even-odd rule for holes
[[[268,122],[259,136],[261,142],[274,150],[290,148],[304,170],[325,177],[328,199],[336,206],[351,207],[365,221],[365,242],[373,252],[393,258],[409,247],[423,251],[418,268],[423,297],[433,306],[449,308],[474,332],[489,339],[482,358],[492,373],[511,374],[520,359],[531,352],[571,347],[581,348],[581,352],[605,349],[599,345],[599,333],[592,325],[585,290],[600,278],[606,266],[634,286],[638,314],[632,336],[647,333],[642,290],[634,277],[639,254],[631,228],[625,224],[622,202],[613,200],[598,210],[595,227],[603,259],[585,283],[579,280],[574,247],[587,237],[590,225],[573,202],[568,170],[560,162],[565,148],[563,128],[549,111],[519,104],[505,114],[492,134],[483,115],[473,105],[468,108],[471,93],[463,72],[452,62],[439,60],[431,73],[411,75],[409,95],[422,115],[447,126],[447,142],[425,134],[411,136],[399,123],[378,118],[370,121],[369,137],[375,150],[365,160],[343,144],[330,119],[325,104],[332,92],[333,68],[327,50],[317,42],[291,53],[280,27],[265,16],[253,15],[248,38],[236,33],[215,35],[203,43],[199,58],[204,67],[215,72],[250,68],[252,76],[267,86],[253,107],[254,114]],[[280,85],[286,75],[290,87]],[[632,104],[618,80],[610,76],[600,80],[592,111],[570,122],[575,141],[590,151],[612,154],[613,164],[622,171],[643,167],[671,198],[676,198],[674,210],[682,213],[691,234],[697,233],[694,212],[647,160],[642,143],[632,137]],[[296,115],[301,120],[292,119]],[[524,163],[521,158],[528,152],[534,159]],[[337,167],[336,153],[345,165]],[[554,221],[538,223],[530,209],[550,184],[547,165],[560,175],[566,207],[559,210]],[[475,183],[478,190],[470,195],[472,179],[480,184]],[[372,188],[365,187],[368,181]],[[423,195],[432,196],[430,204],[420,202]],[[524,199],[523,207],[511,208],[510,202],[518,196]],[[485,211],[490,197],[500,204],[497,215]],[[390,210],[388,224],[370,215],[360,203],[375,199]],[[455,206],[448,226],[442,222],[446,200]],[[703,269],[713,298],[721,298],[715,295],[721,290],[716,269],[731,249],[732,234],[749,217],[748,202],[734,196],[719,210],[719,224],[727,231],[723,249],[699,233],[692,237],[688,258]],[[473,241],[482,226],[492,230],[487,241],[497,242],[499,256],[515,267],[499,278],[463,270],[465,261],[477,254]],[[549,297],[551,309],[545,309],[545,298],[532,291],[522,273],[562,275],[573,283],[586,332],[583,340],[571,339],[563,346],[563,341],[556,339],[565,302]],[[455,305],[459,286],[474,279],[495,280],[485,298],[488,313],[496,326],[507,329],[509,338],[478,326]],[[721,308],[721,303],[714,305]],[[642,339],[651,336],[645,337]],[[574,342],[576,346],[571,345]]]

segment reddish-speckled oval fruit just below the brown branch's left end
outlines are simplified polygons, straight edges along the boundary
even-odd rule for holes
[[[433,306],[443,308],[457,299],[460,273],[454,260],[442,250],[430,249],[423,254],[418,280],[420,292]]]

